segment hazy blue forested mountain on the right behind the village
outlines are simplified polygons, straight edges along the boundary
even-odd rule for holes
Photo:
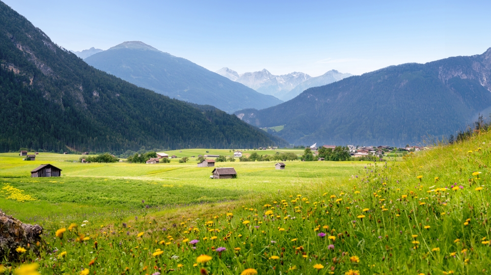
[[[390,66],[309,88],[292,100],[235,114],[271,133],[310,145],[393,145],[465,129],[491,106],[491,48],[473,56]]]

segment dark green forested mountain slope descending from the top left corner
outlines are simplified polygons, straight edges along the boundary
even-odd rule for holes
[[[94,69],[3,2],[0,129],[0,152],[285,145],[234,115]]]

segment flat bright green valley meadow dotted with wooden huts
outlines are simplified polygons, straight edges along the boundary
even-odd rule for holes
[[[289,161],[287,169],[275,170],[275,162],[218,162],[217,167],[234,167],[238,178],[212,180],[209,177],[213,168],[199,168],[192,159],[161,164],[73,162],[80,157],[40,153],[35,161],[24,161],[18,154],[0,154],[0,189],[9,184],[35,198],[25,202],[7,200],[4,191],[0,208],[27,222],[63,215],[71,222],[69,219],[84,220],[94,213],[105,218],[120,211],[149,212],[301,189],[305,184],[347,177],[360,167],[357,162]],[[43,163],[62,169],[62,177],[30,178],[29,171]]]

